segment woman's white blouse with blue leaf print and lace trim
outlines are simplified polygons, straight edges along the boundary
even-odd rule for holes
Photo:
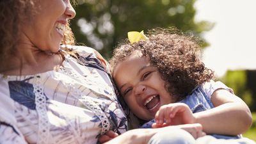
[[[0,143],[97,143],[110,129],[127,131],[106,61],[89,47],[68,51],[56,70],[0,74]]]

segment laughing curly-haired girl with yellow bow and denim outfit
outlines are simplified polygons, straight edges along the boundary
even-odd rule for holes
[[[147,36],[129,33],[129,40],[115,49],[110,63],[132,113],[151,120],[142,127],[199,123],[207,134],[225,139],[239,138],[250,127],[250,109],[232,89],[213,81],[195,37],[153,29]]]

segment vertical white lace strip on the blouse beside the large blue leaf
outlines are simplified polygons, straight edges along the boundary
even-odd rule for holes
[[[35,77],[34,93],[35,93],[35,104],[36,112],[38,114],[38,144],[47,144],[49,141],[49,120],[46,109],[46,97],[42,86],[40,85],[40,77]]]

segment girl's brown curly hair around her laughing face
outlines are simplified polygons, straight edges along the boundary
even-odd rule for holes
[[[113,51],[109,60],[113,70],[132,52],[141,52],[147,56],[166,82],[166,89],[177,100],[182,100],[196,86],[214,79],[211,69],[200,60],[200,45],[192,35],[185,35],[177,29],[152,29],[146,35],[149,40],[140,40],[134,44],[125,40]]]

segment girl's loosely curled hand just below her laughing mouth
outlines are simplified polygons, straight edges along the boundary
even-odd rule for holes
[[[194,124],[196,118],[188,105],[184,103],[172,103],[161,106],[156,113],[156,123],[153,128],[167,125]]]

